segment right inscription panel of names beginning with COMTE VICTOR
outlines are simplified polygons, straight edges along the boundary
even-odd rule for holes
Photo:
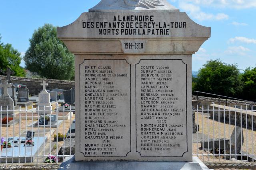
[[[183,156],[187,141],[187,64],[136,64],[136,151],[141,156]]]

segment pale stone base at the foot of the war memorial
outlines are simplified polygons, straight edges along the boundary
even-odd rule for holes
[[[75,157],[65,158],[62,170],[209,170],[198,158],[193,162],[75,162]]]

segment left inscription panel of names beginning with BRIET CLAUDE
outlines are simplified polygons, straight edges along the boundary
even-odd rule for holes
[[[80,64],[80,152],[85,157],[131,151],[130,72],[126,60]]]

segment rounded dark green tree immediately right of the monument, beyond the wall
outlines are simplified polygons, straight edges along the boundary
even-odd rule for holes
[[[240,72],[236,64],[225,64],[217,60],[210,60],[204,64],[195,78],[194,90],[238,97],[242,92]]]

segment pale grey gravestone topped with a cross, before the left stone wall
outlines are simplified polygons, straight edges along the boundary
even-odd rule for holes
[[[50,114],[52,113],[52,106],[50,103],[50,93],[46,91],[48,84],[43,81],[41,86],[43,86],[43,90],[38,95],[38,107],[36,107],[36,111],[39,114]]]

